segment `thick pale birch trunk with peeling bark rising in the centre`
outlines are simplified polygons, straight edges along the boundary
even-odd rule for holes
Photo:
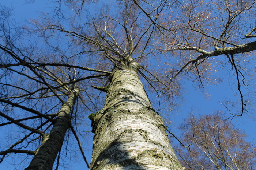
[[[105,106],[95,115],[90,170],[183,169],[137,69],[132,61],[114,71]]]

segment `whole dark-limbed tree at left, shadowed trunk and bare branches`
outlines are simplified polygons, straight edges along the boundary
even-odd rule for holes
[[[109,73],[67,64],[63,55],[62,63],[56,64],[55,55],[61,50],[54,48],[55,51],[51,52],[51,47],[48,47],[41,53],[31,32],[21,32],[21,29],[11,27],[8,16],[11,10],[2,10],[0,126],[10,128],[9,133],[2,134],[3,139],[9,135],[10,137],[8,143],[2,141],[7,145],[1,145],[0,162],[7,159],[11,153],[22,153],[34,156],[27,169],[52,169],[58,155],[58,167],[61,147],[67,142],[65,134],[69,129],[76,148],[80,150],[89,167],[77,135],[81,132],[74,127],[74,124],[78,126],[79,119],[76,119],[76,116],[74,120],[71,118],[76,114],[78,99],[86,105],[86,100],[79,95],[79,88],[83,88],[86,83],[80,86],[79,82],[104,77]],[[23,43],[23,38],[29,41],[25,40],[26,43]],[[59,55],[60,53],[57,56]],[[78,72],[82,73],[82,70],[99,71],[99,74],[88,74],[81,78]],[[90,110],[90,107],[87,109]],[[16,163],[20,164],[14,162],[14,165]]]

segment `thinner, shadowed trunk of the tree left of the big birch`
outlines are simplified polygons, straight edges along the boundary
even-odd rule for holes
[[[52,130],[44,136],[42,145],[37,149],[29,167],[25,170],[52,170],[53,163],[61,149],[65,133],[69,127],[70,111],[75,104],[78,93],[78,90],[74,91],[67,102],[63,104]]]

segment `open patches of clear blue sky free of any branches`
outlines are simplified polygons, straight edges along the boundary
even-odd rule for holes
[[[28,4],[26,4],[25,2],[25,0],[0,0],[1,5],[6,5],[9,7],[12,6],[14,8],[15,20],[18,21],[18,23],[24,23],[25,20],[39,17],[40,11],[48,11],[51,9],[52,6],[51,4],[46,3],[47,1],[44,0],[35,0],[34,3]],[[207,91],[208,94],[210,94],[209,99],[206,99],[206,97],[202,95],[198,88],[193,88],[193,84],[191,82],[186,82],[186,84],[184,84],[185,90],[187,91],[186,95],[184,96],[186,103],[180,108],[180,114],[178,114],[177,116],[172,116],[172,122],[176,123],[173,123],[173,127],[171,127],[170,130],[178,135],[178,131],[177,129],[175,129],[175,127],[182,122],[182,118],[185,118],[191,112],[193,112],[194,114],[211,114],[214,110],[222,110],[225,112],[226,108],[221,103],[226,98],[237,98],[238,95],[238,92],[236,94],[236,92],[234,92],[234,89],[230,88],[229,84],[230,82],[228,82],[227,78],[226,82],[220,82],[217,85],[205,85],[204,90]],[[195,110],[197,110],[197,113],[195,113]],[[248,116],[244,116],[242,118],[235,118],[232,123],[234,123],[235,127],[243,129],[246,134],[249,135],[249,142],[256,141],[255,121],[249,119]],[[90,161],[91,155],[88,154],[86,155],[86,157],[87,160]],[[6,169],[6,167],[4,166],[5,165],[0,164],[0,169]],[[81,163],[81,165],[74,165],[73,167],[74,169],[87,169],[84,162]],[[8,169],[15,169],[15,167],[9,167]]]

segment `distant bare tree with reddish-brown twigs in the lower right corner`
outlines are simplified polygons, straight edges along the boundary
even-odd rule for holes
[[[180,139],[189,147],[176,149],[187,169],[255,169],[255,146],[222,115],[191,115],[181,124]]]

